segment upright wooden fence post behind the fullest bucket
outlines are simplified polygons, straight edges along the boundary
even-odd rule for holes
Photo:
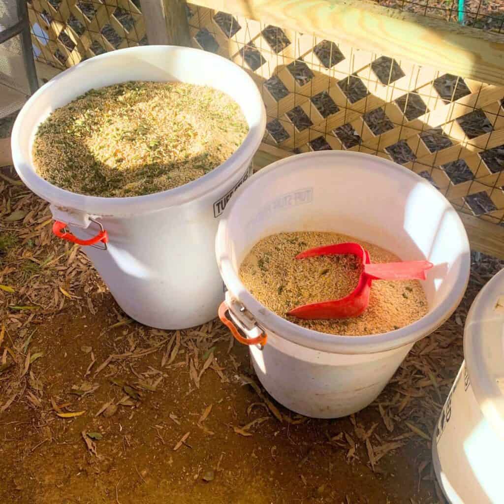
[[[183,0],[140,0],[150,44],[191,46]]]

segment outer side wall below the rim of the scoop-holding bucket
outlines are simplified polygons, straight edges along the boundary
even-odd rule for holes
[[[412,345],[379,354],[319,352],[268,333],[261,351],[250,348],[264,388],[305,416],[338,418],[368,406],[382,392]]]

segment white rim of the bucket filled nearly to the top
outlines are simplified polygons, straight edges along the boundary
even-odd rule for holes
[[[219,61],[219,64],[225,65],[229,69],[230,77],[234,74],[235,78],[241,78],[240,86],[244,86],[247,89],[247,93],[250,96],[250,100],[255,100],[258,103],[259,120],[255,124],[249,124],[249,131],[241,143],[241,145],[236,149],[236,151],[224,161],[221,165],[214,168],[212,171],[206,173],[202,177],[188,182],[184,185],[174,187],[167,191],[162,191],[159,193],[149,194],[145,196],[130,196],[126,198],[105,198],[98,196],[87,196],[78,193],[72,193],[56,185],[51,184],[47,180],[40,177],[36,171],[32,168],[31,162],[31,152],[25,152],[19,147],[20,137],[23,135],[23,128],[25,120],[30,113],[30,108],[32,104],[40,99],[48,89],[54,85],[62,86],[64,85],[66,79],[75,74],[82,77],[90,71],[90,66],[96,64],[97,61],[101,61],[107,58],[116,58],[118,55],[129,52],[130,54],[143,54],[147,52],[158,51],[160,57],[166,57],[166,51],[170,52],[172,56],[183,58],[184,53],[195,53],[199,52],[202,57],[209,59],[215,59]],[[125,82],[125,81],[121,81]],[[90,86],[89,89],[92,89]],[[232,177],[237,173],[243,164],[245,164],[248,159],[251,158],[253,153],[259,148],[264,130],[266,127],[266,112],[263,105],[263,100],[261,93],[253,81],[253,79],[240,67],[238,67],[232,61],[214,54],[211,52],[204,51],[202,49],[195,49],[191,47],[180,47],[174,45],[145,45],[137,47],[127,47],[124,49],[117,49],[115,51],[106,52],[98,56],[94,56],[86,61],[80,62],[78,65],[71,67],[64,72],[61,72],[57,76],[53,77],[46,84],[44,84],[40,89],[38,89],[25,103],[23,108],[20,110],[16,121],[14,123],[12,135],[11,135],[11,149],[13,164],[16,171],[25,183],[32,191],[36,187],[36,194],[49,202],[56,202],[61,207],[72,208],[76,210],[81,210],[83,212],[91,211],[93,214],[104,215],[130,215],[134,213],[148,213],[167,208],[169,206],[183,205],[188,201],[200,198],[206,193],[213,191],[215,187],[218,187],[225,180]],[[32,146],[33,135],[35,132],[31,132],[30,139],[30,149]]]

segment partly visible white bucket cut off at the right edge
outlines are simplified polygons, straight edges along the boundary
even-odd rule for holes
[[[464,356],[432,439],[434,471],[452,504],[504,502],[504,270],[481,290]]]

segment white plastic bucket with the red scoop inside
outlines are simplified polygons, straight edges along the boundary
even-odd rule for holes
[[[435,266],[423,287],[429,312],[380,335],[310,331],[260,304],[238,277],[261,238],[283,231],[335,231]],[[250,353],[266,390],[284,406],[318,418],[345,416],[371,403],[413,343],[459,304],[469,277],[469,243],[459,216],[426,180],[385,159],[323,151],[261,170],[240,187],[219,224],[216,254],[233,321],[267,344]],[[241,311],[240,311],[241,310]]]

